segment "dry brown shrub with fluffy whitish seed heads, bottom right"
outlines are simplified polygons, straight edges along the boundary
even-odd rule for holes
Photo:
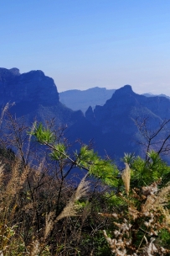
[[[129,195],[129,176],[126,174],[128,168],[126,169],[122,179],[126,194]],[[121,199],[127,204],[127,211],[108,215],[114,217],[114,237],[108,237],[106,230],[104,236],[115,256],[169,255],[170,250],[157,243],[157,236],[162,229],[170,232],[170,211],[166,208],[169,203],[170,185],[167,184],[159,190],[159,182],[141,189],[131,189],[128,200],[121,194]],[[137,236],[142,237],[138,245]]]

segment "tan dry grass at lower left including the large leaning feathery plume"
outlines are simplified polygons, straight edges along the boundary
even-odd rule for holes
[[[13,248],[16,251],[13,255],[51,255],[45,249],[51,239],[51,232],[54,231],[58,221],[77,215],[79,207],[76,203],[80,198],[85,197],[89,190],[89,181],[86,181],[85,176],[71,196],[71,190],[68,189],[69,195],[64,195],[67,199],[66,205],[60,214],[57,214],[55,205],[59,182],[42,172],[43,169],[43,163],[41,171],[40,168],[34,171],[28,167],[24,168],[21,161],[16,160],[12,164],[11,173],[7,175],[4,165],[0,165],[2,192],[0,195],[0,250],[2,255],[11,255]],[[46,199],[45,194],[48,195]],[[41,222],[43,225],[40,224]],[[24,238],[20,239],[20,236]],[[19,240],[20,243],[15,243]],[[19,250],[23,250],[24,254],[17,253]]]

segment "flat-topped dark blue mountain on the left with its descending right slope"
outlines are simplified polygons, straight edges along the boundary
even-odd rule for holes
[[[24,115],[28,124],[34,118],[43,122],[54,118],[57,125],[72,125],[83,117],[81,111],[59,102],[54,80],[39,70],[20,74],[18,68],[0,68],[0,107],[7,103],[14,103],[10,112],[16,118]]]

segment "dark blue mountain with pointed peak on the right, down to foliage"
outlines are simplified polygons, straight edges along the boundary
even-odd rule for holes
[[[117,89],[103,106],[87,109],[84,124],[77,122],[70,129],[72,134],[75,132],[75,139],[80,137],[88,141],[93,138],[95,150],[100,155],[107,153],[113,159],[120,159],[124,152],[139,155],[146,152],[146,147],[137,144],[137,141],[144,142],[144,139],[135,125],[136,120],[147,120],[147,129],[151,134],[167,119],[170,119],[169,99],[157,96],[148,98],[134,93],[131,86],[126,85]],[[162,136],[166,136],[168,131],[162,132]],[[152,142],[158,139],[160,136]],[[156,147],[156,144],[153,146]]]

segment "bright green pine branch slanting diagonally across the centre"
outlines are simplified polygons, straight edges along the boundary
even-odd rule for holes
[[[118,179],[116,178],[119,171],[115,164],[112,163],[111,160],[102,159],[86,145],[80,148],[79,153],[75,152],[75,159],[72,159],[67,152],[65,152],[66,147],[64,143],[58,142],[55,144],[53,133],[49,129],[45,129],[42,124],[35,127],[32,135],[35,136],[40,143],[49,145],[52,159],[68,159],[74,163],[76,167],[85,168],[89,171],[90,175],[101,179],[105,184],[112,187],[118,185]]]

